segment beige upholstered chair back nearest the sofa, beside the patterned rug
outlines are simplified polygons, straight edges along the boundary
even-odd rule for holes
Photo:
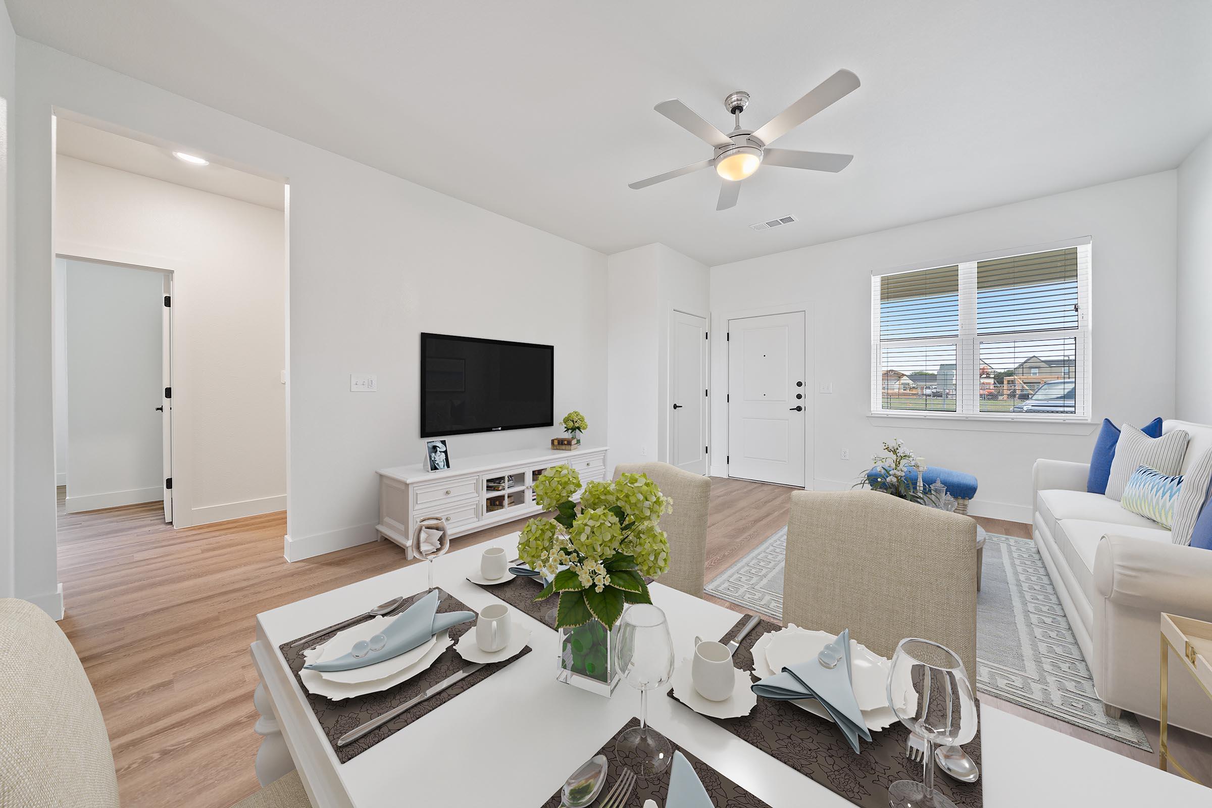
[[[884,657],[905,637],[955,652],[976,686],[977,523],[874,491],[791,494],[783,621]]]

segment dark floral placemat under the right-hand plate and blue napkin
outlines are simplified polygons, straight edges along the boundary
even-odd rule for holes
[[[720,642],[727,643],[736,637],[748,620],[748,615],[737,620]],[[751,671],[754,643],[766,631],[778,631],[781,628],[762,620],[750,631],[732,654],[737,667]],[[676,699],[671,689],[669,697]],[[921,763],[905,757],[909,728],[901,722],[873,732],[871,743],[859,740],[859,753],[856,755],[837,732],[836,724],[790,701],[760,698],[748,716],[703,717],[862,808],[887,808],[890,785],[897,780],[920,783],[922,778]],[[964,745],[964,751],[981,766],[979,730],[976,738]],[[936,768],[934,787],[950,797],[959,808],[981,808],[984,804],[983,779],[973,784],[959,783]]]

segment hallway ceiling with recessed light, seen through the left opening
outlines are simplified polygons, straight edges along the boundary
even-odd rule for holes
[[[230,196],[263,207],[279,211],[286,207],[286,189],[280,182],[255,177],[216,162],[208,166],[189,165],[172,156],[171,148],[135,141],[64,116],[59,116],[56,121],[55,150],[99,166]],[[188,153],[188,149],[178,150]]]

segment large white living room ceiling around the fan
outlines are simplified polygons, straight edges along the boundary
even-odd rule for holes
[[[1174,167],[1212,130],[1212,2],[7,0],[22,36],[616,252],[709,264]],[[652,111],[760,125],[839,68],[863,86],[716,212],[710,156]],[[796,224],[748,228],[787,213]]]

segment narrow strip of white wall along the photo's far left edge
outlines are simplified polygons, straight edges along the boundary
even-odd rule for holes
[[[13,345],[13,277],[16,274],[16,193],[11,164],[16,149],[17,36],[8,19],[8,8],[0,2],[0,597],[16,594],[16,546],[13,544],[12,509],[12,345]],[[27,560],[28,561],[28,560]],[[50,601],[40,603],[51,609],[58,602],[56,591]]]

